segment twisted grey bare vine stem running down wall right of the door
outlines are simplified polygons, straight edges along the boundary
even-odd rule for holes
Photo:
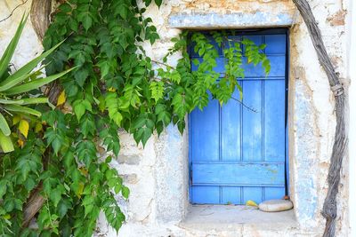
[[[328,75],[328,83],[330,89],[335,95],[336,106],[336,133],[333,145],[333,151],[330,158],[330,167],[328,170],[328,194],[324,201],[322,215],[327,219],[324,230],[324,237],[335,236],[336,233],[336,216],[337,216],[337,202],[336,196],[338,193],[338,186],[340,183],[340,170],[343,163],[345,146],[347,143],[344,123],[344,87],[340,83],[340,79],[335,72],[335,69],[328,57],[328,52],[323,43],[320,28],[316,22],[312,9],[306,0],[293,0],[303,20],[308,28],[309,34],[312,38],[315,51],[318,54],[321,67],[324,68]]]

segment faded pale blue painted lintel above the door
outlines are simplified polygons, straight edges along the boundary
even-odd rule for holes
[[[289,27],[293,16],[288,13],[175,14],[169,17],[171,28],[277,28]]]

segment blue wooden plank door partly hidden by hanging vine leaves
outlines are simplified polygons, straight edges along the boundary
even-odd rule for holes
[[[233,99],[223,107],[211,99],[203,111],[190,114],[192,203],[243,204],[286,194],[287,33],[279,30],[233,37],[266,43],[271,73],[265,77],[262,67],[244,65],[246,78],[239,81],[243,103],[256,112]],[[223,75],[222,50],[215,70]],[[235,98],[239,99],[237,91]]]

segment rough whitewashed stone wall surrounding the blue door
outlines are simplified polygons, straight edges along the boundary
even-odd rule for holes
[[[0,19],[21,1],[0,2]],[[161,59],[178,36],[179,28],[290,28],[290,62],[288,94],[289,183],[295,203],[297,227],[278,231],[265,228],[243,228],[241,233],[186,229],[180,222],[189,209],[188,134],[181,136],[170,126],[160,138],[150,138],[143,149],[134,139],[121,132],[122,150],[112,165],[131,189],[129,201],[122,200],[127,223],[118,236],[320,236],[325,221],[320,214],[327,192],[328,165],[336,125],[334,99],[328,79],[320,67],[312,41],[290,0],[164,0],[158,10],[146,12],[158,28],[161,40],[145,44],[150,57]],[[312,11],[322,31],[336,71],[347,88],[350,21],[347,0],[311,0]],[[0,52],[10,41],[20,16],[28,11],[30,1],[0,23]],[[41,51],[41,44],[31,28],[24,30],[13,63],[23,65]],[[0,53],[1,54],[1,53]],[[177,55],[176,57],[179,57]],[[170,62],[174,64],[174,59]],[[348,157],[344,160],[336,236],[348,236]],[[238,234],[238,235],[237,235]],[[101,216],[97,236],[117,236]]]

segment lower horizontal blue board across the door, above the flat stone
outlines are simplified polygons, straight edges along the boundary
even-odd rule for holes
[[[193,184],[284,186],[284,162],[193,162]]]

